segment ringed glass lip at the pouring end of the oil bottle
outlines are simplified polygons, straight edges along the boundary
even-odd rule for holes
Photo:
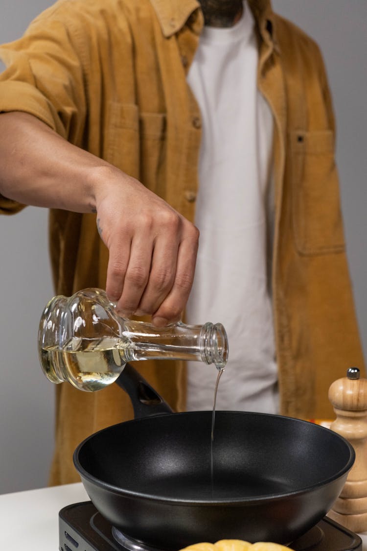
[[[206,364],[215,364],[222,371],[228,360],[228,338],[221,323],[205,323],[200,333],[200,353]]]

